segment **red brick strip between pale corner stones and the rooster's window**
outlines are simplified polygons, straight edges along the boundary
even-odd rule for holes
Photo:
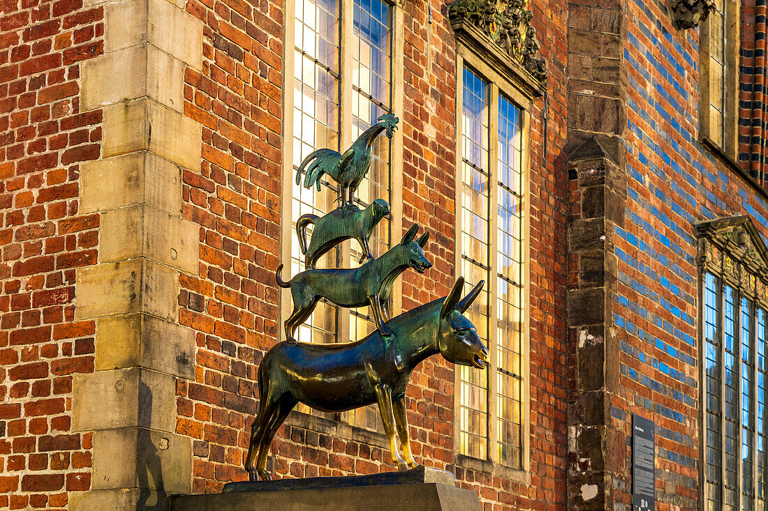
[[[201,173],[184,171],[182,216],[200,224],[200,269],[180,278],[197,368],[177,389],[177,432],[195,439],[202,493],[245,476],[256,368],[277,333],[283,12],[240,0],[192,0],[187,12],[204,23],[204,60],[202,74],[187,70],[184,112],[204,127]]]

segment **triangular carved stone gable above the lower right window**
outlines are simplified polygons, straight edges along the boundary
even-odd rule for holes
[[[695,228],[700,264],[745,288],[754,288],[750,274],[768,282],[768,248],[749,216],[710,220]]]

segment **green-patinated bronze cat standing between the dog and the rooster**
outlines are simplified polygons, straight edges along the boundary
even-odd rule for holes
[[[349,215],[349,212],[353,212]],[[366,209],[356,206],[342,206],[325,216],[312,213],[302,215],[296,220],[296,236],[299,237],[301,253],[304,254],[306,269],[314,269],[317,259],[345,239],[354,238],[362,247],[363,259],[373,259],[368,240],[373,229],[382,218],[389,215],[389,204],[384,199],[376,199]],[[314,224],[310,246],[306,246],[306,227]]]

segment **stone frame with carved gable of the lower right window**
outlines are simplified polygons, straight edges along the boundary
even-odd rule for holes
[[[752,219],[749,216],[734,216],[725,219],[710,220],[702,223],[698,223],[695,226],[696,234],[698,236],[698,282],[699,282],[699,302],[698,308],[698,321],[699,321],[699,436],[700,436],[700,451],[699,459],[703,460],[699,466],[699,494],[703,496],[702,509],[707,509],[706,503],[710,498],[709,486],[707,484],[707,415],[709,414],[709,404],[707,402],[707,384],[708,376],[705,368],[705,361],[707,360],[707,345],[710,342],[707,340],[705,332],[705,321],[707,319],[706,308],[706,293],[707,286],[705,285],[705,278],[707,274],[713,275],[717,285],[717,339],[720,343],[718,346],[718,361],[720,362],[720,371],[718,371],[718,377],[720,378],[719,388],[719,407],[720,407],[720,505],[723,503],[723,491],[725,481],[725,463],[723,462],[723,442],[725,437],[725,418],[723,413],[723,396],[725,395],[726,378],[724,377],[724,364],[723,354],[726,352],[725,343],[723,341],[725,336],[724,318],[725,318],[725,292],[724,286],[729,285],[734,290],[734,314],[733,314],[733,344],[735,351],[735,367],[737,376],[734,377],[737,388],[737,416],[738,416],[738,436],[737,436],[737,503],[736,507],[741,509],[741,499],[743,495],[743,424],[742,424],[742,382],[743,375],[741,374],[741,368],[743,366],[743,348],[742,348],[742,324],[741,324],[741,299],[747,298],[752,302],[753,310],[750,311],[750,338],[751,338],[751,354],[750,362],[752,368],[752,391],[753,396],[751,400],[752,415],[757,417],[756,409],[760,402],[758,391],[760,390],[760,384],[758,381],[758,373],[765,372],[760,371],[758,365],[758,345],[760,341],[757,338],[757,308],[763,309],[768,313],[768,248],[766,248],[760,233],[755,228]],[[764,316],[768,321],[768,314]],[[766,335],[765,332],[763,335]],[[768,357],[766,353],[766,347],[763,348],[763,353]],[[766,362],[768,363],[768,362]],[[766,385],[768,385],[768,378],[766,378]],[[768,388],[763,390],[763,402],[768,404]],[[763,420],[766,420],[763,417]],[[768,434],[768,424],[765,425],[766,434]],[[752,483],[753,483],[753,505],[756,507],[756,501],[758,499],[758,436],[759,431],[757,427],[753,427],[753,440],[752,440],[752,457],[751,463],[752,470]],[[763,435],[765,437],[766,435]],[[768,449],[768,445],[766,445]],[[768,453],[766,453],[763,463],[768,466]],[[768,473],[766,473],[768,477]],[[764,496],[768,497],[768,495]]]

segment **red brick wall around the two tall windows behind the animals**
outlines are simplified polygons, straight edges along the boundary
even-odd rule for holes
[[[548,154],[564,146],[564,24],[531,7],[550,59]],[[454,279],[455,39],[445,5],[405,2],[403,223],[429,229],[427,275],[403,275],[408,310],[445,295]],[[184,217],[200,224],[200,269],[182,277],[180,320],[197,331],[195,381],[177,389],[177,432],[194,441],[194,491],[243,480],[257,410],[255,376],[276,338],[280,262],[282,6],[192,1],[204,22],[204,70],[187,71],[185,113],[204,124],[200,175],[184,174]],[[562,8],[561,11],[563,11]],[[564,16],[564,11],[560,12]],[[554,20],[552,18],[555,18]],[[427,31],[431,30],[431,35]],[[428,52],[427,44],[432,49]],[[431,61],[428,59],[431,55]],[[290,70],[292,72],[292,70]],[[564,165],[544,158],[542,101],[531,112],[531,486],[458,469],[486,509],[561,509],[565,496]],[[393,169],[393,172],[398,172]],[[453,367],[425,361],[409,387],[413,448],[425,464],[454,462]],[[289,422],[291,422],[289,420]],[[303,424],[302,421],[299,421]],[[361,435],[364,437],[365,434]],[[279,476],[392,470],[388,450],[308,430],[280,429],[272,453]],[[481,488],[481,486],[483,486]],[[495,503],[495,504],[494,504]]]

